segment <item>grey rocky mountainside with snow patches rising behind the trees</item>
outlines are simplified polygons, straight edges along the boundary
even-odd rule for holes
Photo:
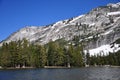
[[[25,27],[13,33],[3,42],[26,38],[32,43],[46,44],[61,38],[69,41],[74,36],[79,36],[79,42],[87,42],[85,49],[89,52],[103,45],[110,46],[120,38],[120,2],[95,8],[85,15],[59,21],[52,25]]]

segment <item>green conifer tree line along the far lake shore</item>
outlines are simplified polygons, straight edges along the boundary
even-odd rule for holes
[[[26,39],[3,43],[0,47],[0,68],[70,68],[111,65],[120,66],[120,51],[108,55],[84,54],[82,44],[65,41],[45,45],[29,43]]]

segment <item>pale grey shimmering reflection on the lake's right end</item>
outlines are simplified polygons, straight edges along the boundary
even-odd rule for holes
[[[93,68],[89,80],[120,80],[120,68]]]

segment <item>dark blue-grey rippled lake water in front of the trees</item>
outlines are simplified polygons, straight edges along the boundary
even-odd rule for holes
[[[120,68],[0,70],[0,80],[120,80]]]

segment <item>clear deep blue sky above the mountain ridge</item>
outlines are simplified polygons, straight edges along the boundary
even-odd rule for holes
[[[119,0],[0,0],[0,41],[25,26],[48,25]]]

